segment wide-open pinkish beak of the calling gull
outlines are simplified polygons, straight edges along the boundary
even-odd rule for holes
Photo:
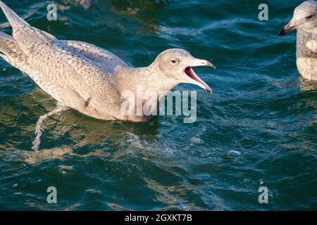
[[[209,62],[209,60],[193,58],[189,63],[189,66],[187,66],[187,68],[185,68],[184,70],[185,75],[187,75],[190,78],[190,83],[196,84],[197,86],[200,86],[202,89],[209,91],[209,93],[212,93],[210,86],[208,86],[208,84],[206,84],[202,79],[200,79],[198,75],[194,72],[194,70],[192,70],[192,67],[195,66],[210,66],[215,69],[216,67],[211,62]]]

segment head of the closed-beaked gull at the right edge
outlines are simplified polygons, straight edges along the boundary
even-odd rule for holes
[[[282,28],[279,36],[285,36],[288,32],[298,28],[309,31],[316,27],[317,1],[304,1],[295,8],[292,20]]]

